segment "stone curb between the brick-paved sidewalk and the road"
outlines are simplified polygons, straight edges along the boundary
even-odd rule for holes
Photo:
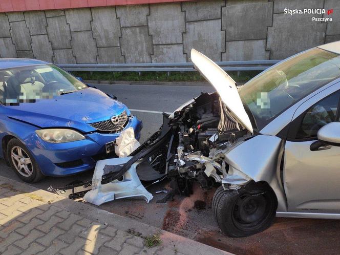
[[[159,233],[162,238],[162,245],[168,247],[175,247],[180,250],[180,252],[184,252],[186,254],[195,254],[195,255],[206,255],[206,254],[232,254],[194,240],[178,236],[174,233],[162,230],[160,228],[147,225],[145,223],[141,223],[135,221],[130,218],[126,218],[120,215],[116,215],[110,213],[109,211],[105,211],[97,208],[96,206],[89,205],[83,202],[76,202],[71,199],[58,196],[56,194],[47,192],[42,189],[35,188],[28,184],[18,182],[6,177],[2,177],[0,181],[3,184],[9,184],[15,187],[18,192],[30,193],[31,195],[35,195],[39,198],[39,201],[44,203],[49,203],[54,206],[57,206],[63,210],[69,211],[70,213],[76,214],[82,218],[89,219],[91,221],[96,221],[102,223],[104,225],[112,226],[116,229],[127,231],[133,229],[134,231],[140,232],[143,236],[153,235],[155,233]],[[31,196],[34,199],[35,196]],[[57,203],[54,204],[54,203]]]

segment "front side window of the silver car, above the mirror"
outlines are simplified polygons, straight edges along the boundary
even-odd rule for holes
[[[317,131],[329,122],[338,121],[339,91],[315,103],[305,113],[296,138],[316,137]]]

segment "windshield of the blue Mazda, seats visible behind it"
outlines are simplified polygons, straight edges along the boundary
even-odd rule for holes
[[[3,104],[35,102],[86,88],[86,84],[54,65],[0,70],[0,101]]]

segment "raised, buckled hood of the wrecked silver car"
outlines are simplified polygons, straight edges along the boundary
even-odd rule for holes
[[[236,82],[216,63],[195,49],[191,51],[191,59],[195,68],[203,77],[214,86],[222,101],[237,119],[250,133],[253,133],[248,114],[244,110],[240,95],[236,88]]]

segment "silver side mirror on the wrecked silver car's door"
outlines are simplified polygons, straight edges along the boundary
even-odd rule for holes
[[[317,139],[324,144],[340,146],[340,122],[331,122],[324,125],[317,132]]]

